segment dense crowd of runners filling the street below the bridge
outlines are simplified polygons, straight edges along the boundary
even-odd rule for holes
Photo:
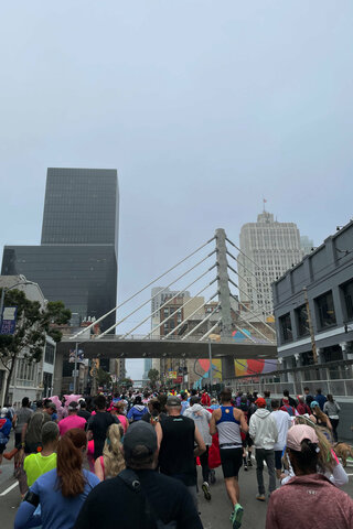
[[[281,399],[229,388],[217,398],[195,389],[24,398],[0,419],[0,465],[13,458],[23,498],[14,528],[199,529],[197,495],[212,500],[221,466],[238,529],[239,471],[254,461],[266,529],[312,528],[319,519],[322,529],[352,529],[353,500],[340,487],[353,454],[339,443],[339,417],[332,395],[309,388]]]

